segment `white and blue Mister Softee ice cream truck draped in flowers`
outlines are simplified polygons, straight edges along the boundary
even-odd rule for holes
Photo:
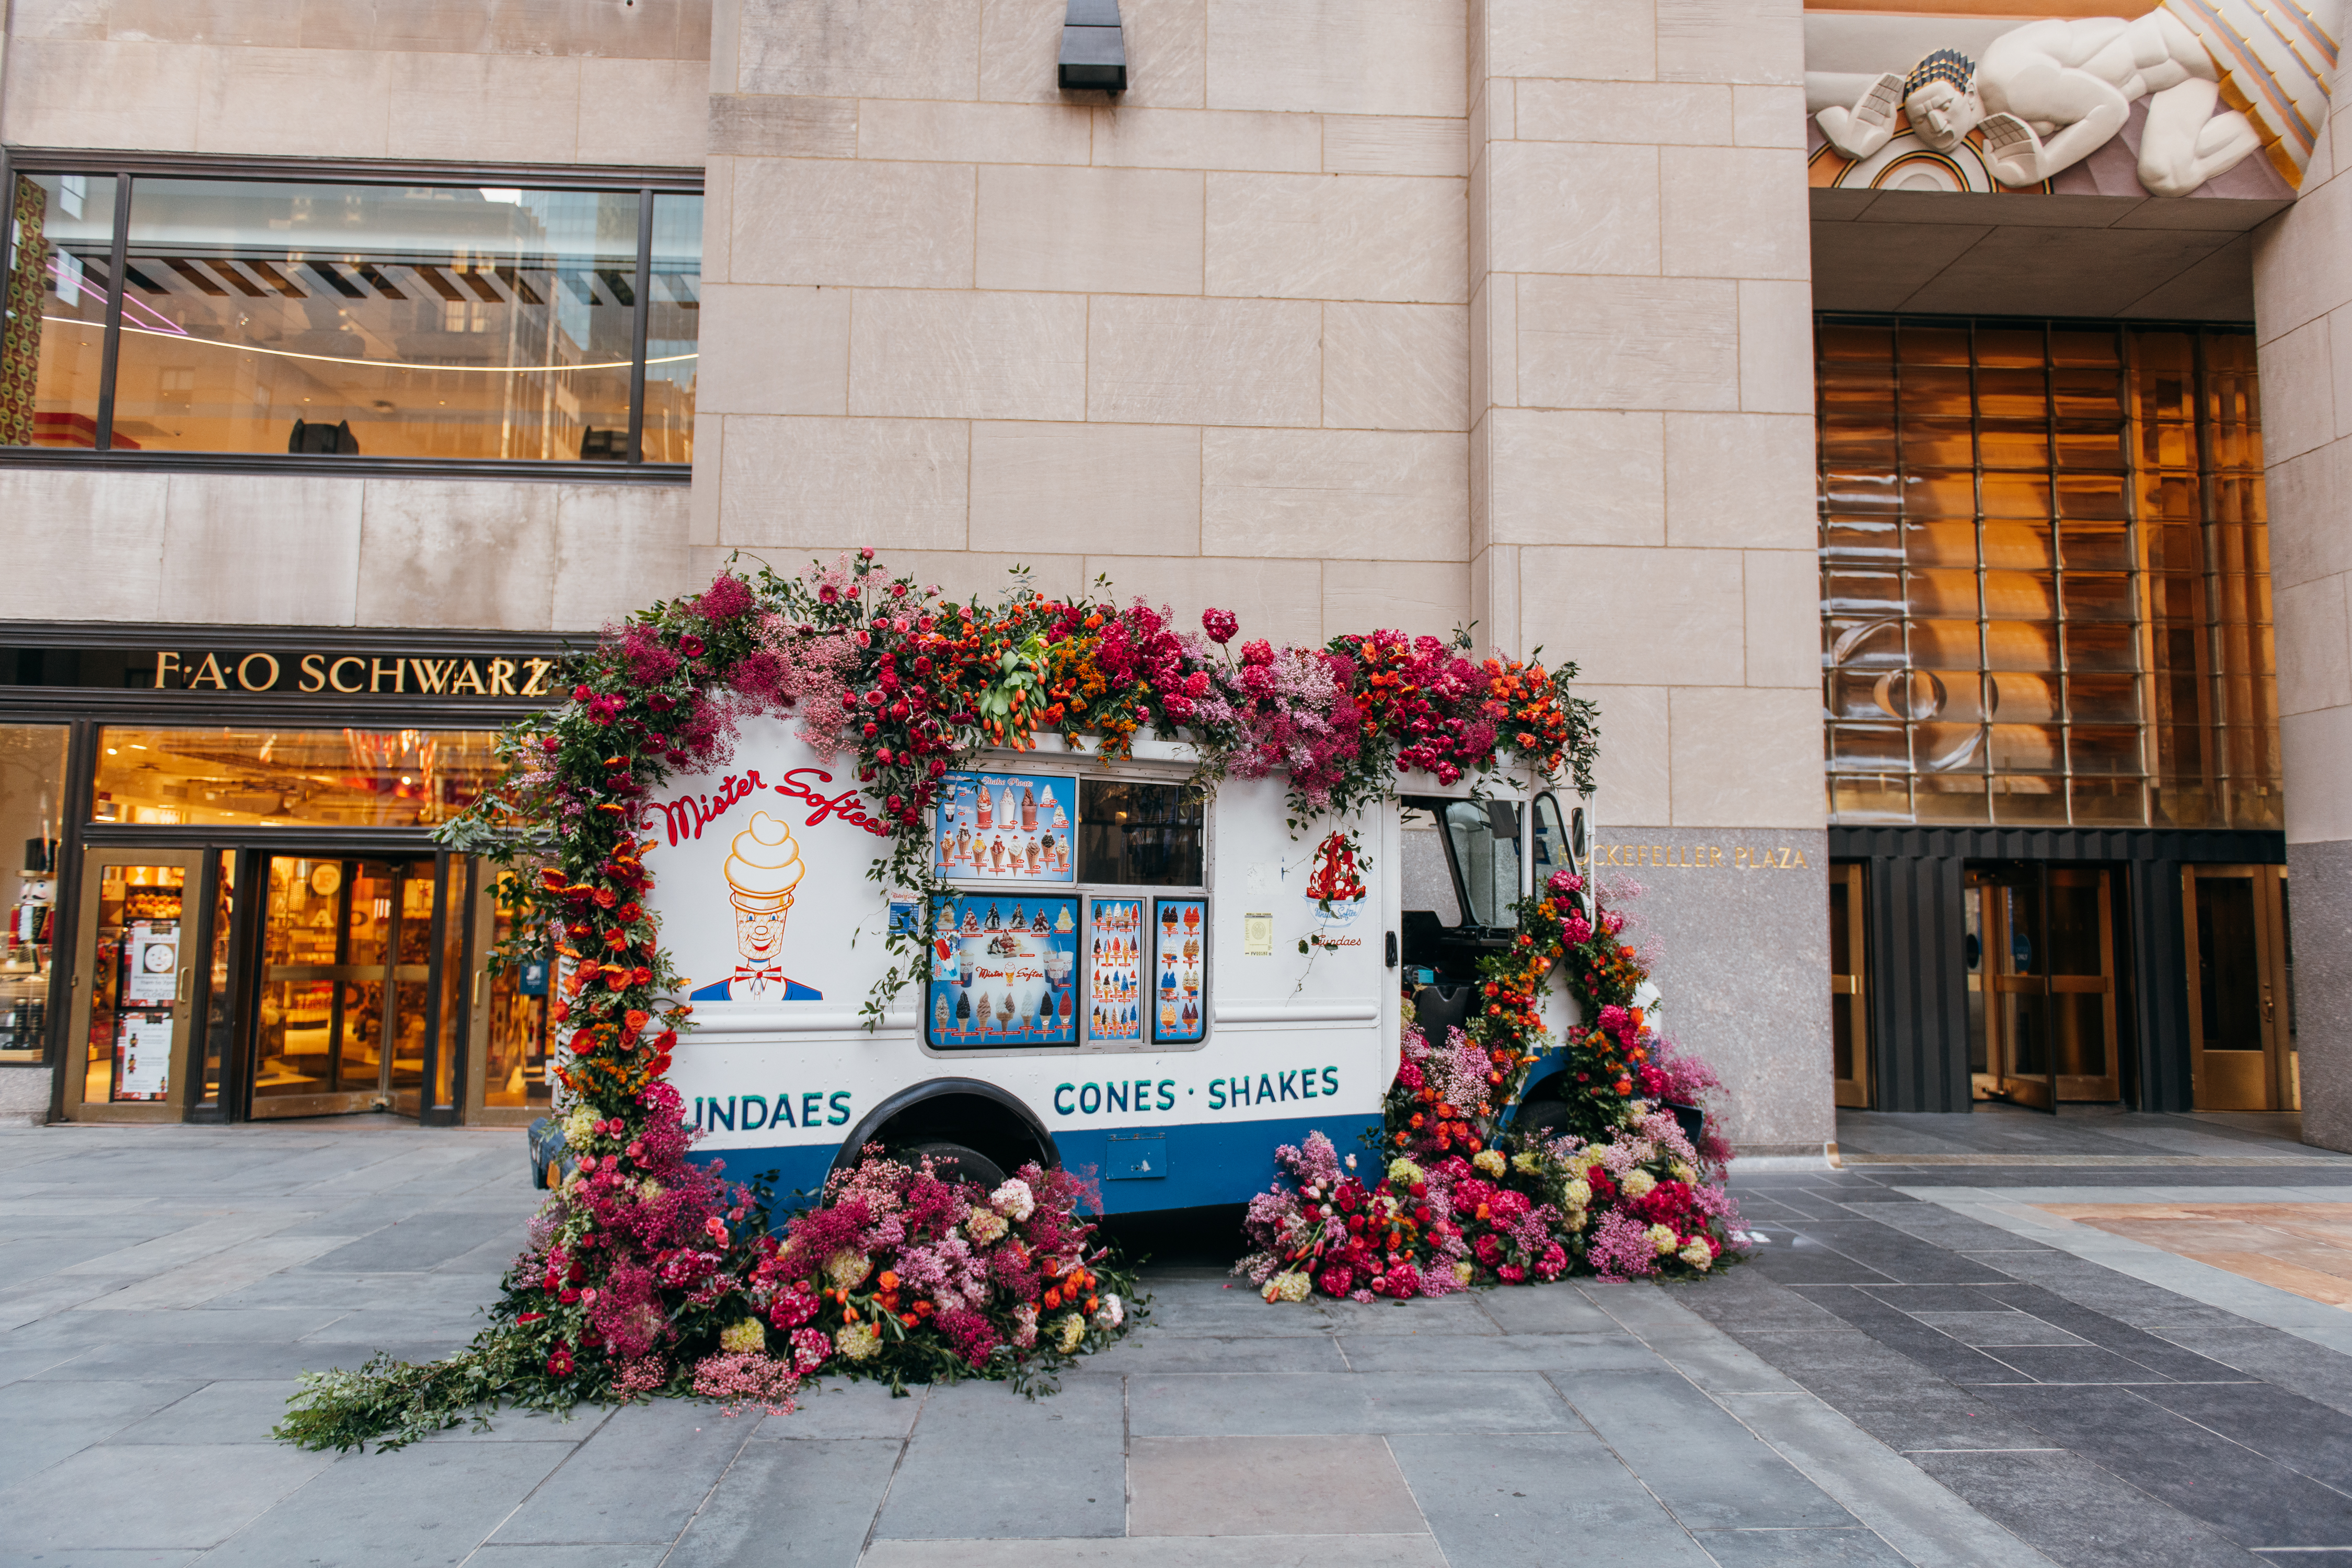
[[[950,893],[927,912],[868,875],[889,844],[854,762],[746,722],[640,823],[694,1009],[670,1081],[699,1154],[783,1201],[868,1143],[988,1182],[1061,1164],[1108,1213],[1244,1201],[1275,1145],[1378,1124],[1406,987],[1458,1006],[1444,983],[1585,849],[1581,802],[1529,778],[1472,797],[1411,776],[1294,830],[1279,776],[1202,792],[1192,773],[1167,741],[1108,764],[1058,738],[981,752],[931,811]],[[894,926],[929,978],[875,1023]]]

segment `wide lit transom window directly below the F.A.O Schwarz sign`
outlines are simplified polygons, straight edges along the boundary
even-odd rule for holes
[[[118,729],[99,733],[99,823],[430,827],[499,762],[480,729]]]

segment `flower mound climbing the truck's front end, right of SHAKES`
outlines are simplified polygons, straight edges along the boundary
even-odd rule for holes
[[[1341,1157],[1322,1133],[1277,1150],[1284,1180],[1251,1199],[1251,1251],[1235,1265],[1265,1300],[1691,1276],[1724,1258],[1738,1232],[1722,1185],[1731,1147],[1712,1128],[1693,1145],[1668,1110],[1703,1110],[1717,1079],[1658,1034],[1658,987],[1621,940],[1625,914],[1555,872],[1517,919],[1512,945],[1482,961],[1470,1025],[1435,1041],[1404,1032],[1364,1154]],[[1555,966],[1590,1018],[1557,1044],[1541,1023]],[[1522,1105],[1562,1105],[1566,1126],[1515,1121]]]

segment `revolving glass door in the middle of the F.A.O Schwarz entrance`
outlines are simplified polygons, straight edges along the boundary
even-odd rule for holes
[[[263,889],[249,1114],[419,1114],[435,860],[273,856]]]

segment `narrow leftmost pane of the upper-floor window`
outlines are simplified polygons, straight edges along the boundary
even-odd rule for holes
[[[94,447],[115,181],[24,174],[7,214],[0,447]]]

